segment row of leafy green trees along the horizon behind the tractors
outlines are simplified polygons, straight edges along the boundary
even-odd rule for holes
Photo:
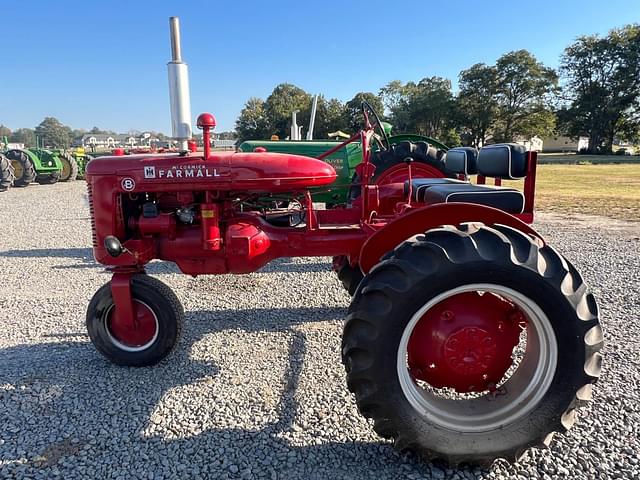
[[[615,139],[640,141],[640,25],[606,36],[581,36],[565,48],[558,70],[527,50],[460,72],[458,91],[446,78],[389,82],[346,103],[319,95],[315,138],[362,125],[360,104],[384,112],[395,133],[418,133],[451,146],[479,146],[533,136],[589,137],[587,153],[611,153]],[[308,125],[312,96],[283,83],[266,100],[250,98],[236,121],[242,140],[289,135],[291,113]]]

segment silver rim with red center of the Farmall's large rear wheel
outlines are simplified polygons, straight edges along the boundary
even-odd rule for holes
[[[482,296],[492,294],[499,301],[505,302],[505,308],[496,308],[488,303],[483,307],[483,302],[477,302],[475,306],[467,305],[468,297],[465,297],[468,294],[482,294]],[[454,306],[457,305],[460,308],[466,306],[467,314],[475,312],[473,317],[477,319],[477,323],[476,320],[471,319],[470,315],[467,315],[466,319],[462,318],[464,312],[459,310],[458,314],[461,318],[456,329],[447,330],[446,326],[434,323],[430,325],[432,329],[431,340],[428,340],[428,337],[421,333],[418,333],[414,338],[416,329],[425,317],[437,322],[452,320],[450,314],[445,313],[451,310],[451,305],[447,304],[449,299],[452,299]],[[493,365],[495,367],[493,372],[498,372],[496,375],[499,375],[498,367],[501,366],[501,359],[505,359],[505,355],[500,354],[499,351],[492,352],[493,346],[490,342],[485,343],[485,333],[469,329],[479,328],[485,330],[490,336],[497,336],[498,333],[502,335],[499,326],[498,331],[493,329],[491,318],[495,318],[500,310],[504,312],[505,316],[510,316],[509,310],[506,308],[507,305],[517,307],[515,311],[512,310],[514,314],[508,321],[512,322],[514,327],[517,325],[518,329],[521,325],[525,326],[526,344],[518,345],[518,348],[523,348],[524,351],[518,355],[517,365],[513,365],[504,375],[500,384],[497,385],[497,389],[492,389],[489,385],[485,385],[486,390],[484,391],[480,390],[482,385],[480,388],[473,385],[474,388],[469,389],[468,386],[473,383],[469,383],[469,376],[483,372],[484,364]],[[446,310],[441,307],[446,307]],[[519,313],[523,314],[524,318],[519,318]],[[505,325],[502,326],[503,329],[505,327]],[[463,333],[458,336],[456,334],[459,331]],[[446,338],[438,338],[442,337],[443,333]],[[480,338],[476,337],[478,333],[481,334]],[[433,343],[427,346],[424,344],[410,346],[416,340],[420,340],[419,343],[424,341]],[[447,345],[449,340],[452,340],[452,343]],[[458,342],[454,340],[458,340]],[[476,358],[482,358],[484,352],[489,352],[489,355],[493,355],[494,359],[490,358],[488,363],[476,364],[474,368],[464,368],[466,362],[460,366],[459,363],[453,361],[453,358],[449,358],[452,360],[451,365],[453,365],[453,367],[450,365],[449,368],[457,368],[458,370],[456,374],[450,375],[454,378],[441,375],[443,387],[447,387],[449,390],[439,392],[439,387],[431,385],[426,380],[421,381],[416,376],[416,373],[420,372],[412,371],[418,366],[415,363],[415,358],[409,358],[416,354],[416,351],[412,351],[414,348],[417,348],[418,353],[429,354],[429,347],[437,347],[439,344],[441,347],[440,360],[442,361],[440,367],[442,368],[446,364],[447,356],[455,355],[459,358],[460,351],[463,351],[466,356],[465,349],[459,347],[460,342],[465,343],[467,340],[470,340],[467,347],[475,348],[475,353],[480,354],[475,355]],[[507,350],[508,344],[511,342],[508,339],[506,341],[503,339],[495,343],[497,349]],[[446,352],[447,347],[450,347],[449,352]],[[505,425],[526,418],[540,404],[550,388],[555,378],[557,362],[558,343],[553,325],[534,299],[504,285],[473,283],[453,288],[429,299],[413,314],[400,338],[396,369],[402,393],[417,413],[428,416],[430,421],[443,428],[459,432],[486,432],[503,428]],[[431,364],[427,364],[427,369],[430,366]],[[483,373],[491,375],[491,371]],[[482,380],[485,379],[482,378]],[[456,386],[460,388],[457,392]],[[465,390],[471,393],[464,393]]]

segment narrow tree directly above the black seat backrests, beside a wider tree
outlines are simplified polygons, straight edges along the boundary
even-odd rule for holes
[[[456,99],[459,128],[464,143],[484,145],[498,117],[498,79],[495,67],[476,63],[460,72]]]

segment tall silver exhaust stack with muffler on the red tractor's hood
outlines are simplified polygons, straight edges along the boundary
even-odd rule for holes
[[[169,101],[171,103],[171,131],[178,140],[181,151],[188,150],[191,139],[191,100],[189,98],[189,70],[182,61],[180,46],[180,20],[169,17],[171,30],[171,61],[167,64],[169,72]]]

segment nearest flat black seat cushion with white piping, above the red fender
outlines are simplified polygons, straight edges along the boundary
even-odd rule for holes
[[[509,213],[522,213],[524,195],[519,190],[489,185],[434,185],[424,192],[425,203],[467,202],[499,208]]]

